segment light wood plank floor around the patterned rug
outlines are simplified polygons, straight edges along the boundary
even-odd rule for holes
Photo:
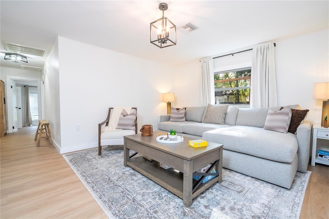
[[[1,143],[1,218],[106,218],[92,195],[49,144],[34,142],[36,126]],[[300,218],[329,218],[329,167],[309,166]]]

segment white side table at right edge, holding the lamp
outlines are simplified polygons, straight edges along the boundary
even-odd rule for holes
[[[321,124],[313,125],[313,143],[312,143],[312,160],[310,165],[315,163],[329,165],[329,160],[318,157],[318,150],[329,151],[329,129],[321,126]]]

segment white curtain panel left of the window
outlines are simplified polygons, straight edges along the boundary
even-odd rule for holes
[[[208,103],[215,104],[214,90],[214,62],[212,58],[205,58],[201,63],[201,87],[202,87],[202,104],[207,106]]]

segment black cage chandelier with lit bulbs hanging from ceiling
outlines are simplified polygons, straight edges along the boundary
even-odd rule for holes
[[[150,24],[151,43],[160,48],[176,45],[176,25],[165,17],[168,4],[160,3],[159,9],[162,17]]]

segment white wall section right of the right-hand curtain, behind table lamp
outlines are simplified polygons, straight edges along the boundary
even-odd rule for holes
[[[279,105],[298,103],[309,109],[307,119],[321,123],[323,100],[313,99],[313,84],[329,82],[329,30],[277,42]]]

